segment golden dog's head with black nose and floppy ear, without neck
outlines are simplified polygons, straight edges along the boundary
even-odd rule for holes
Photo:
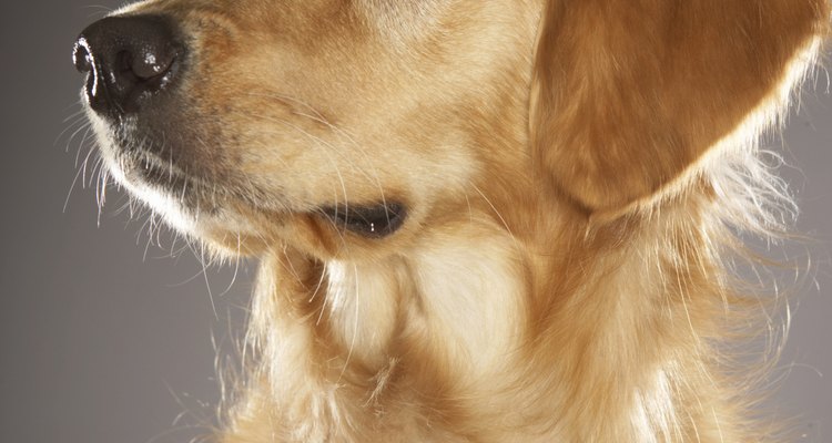
[[[557,205],[617,214],[674,192],[781,96],[823,10],[145,1],[74,55],[110,173],[168,222],[232,251],[333,257],[477,210],[524,230]]]

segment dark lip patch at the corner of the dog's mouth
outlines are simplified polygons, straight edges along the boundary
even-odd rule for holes
[[[404,225],[407,209],[400,203],[387,202],[371,206],[336,206],[325,208],[337,226],[369,238],[386,237]]]

